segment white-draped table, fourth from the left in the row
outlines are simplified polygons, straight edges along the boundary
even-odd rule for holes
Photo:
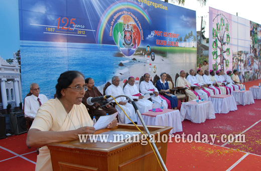
[[[253,95],[250,91],[233,91],[231,95],[234,96],[236,105],[250,105],[254,104]]]

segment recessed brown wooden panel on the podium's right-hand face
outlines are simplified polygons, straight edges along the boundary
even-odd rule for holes
[[[161,153],[161,147],[158,147],[159,152]],[[133,158],[128,160],[122,164],[118,165],[119,171],[143,171],[143,170],[150,170],[150,171],[158,171],[160,168],[159,162],[151,150],[139,157]]]

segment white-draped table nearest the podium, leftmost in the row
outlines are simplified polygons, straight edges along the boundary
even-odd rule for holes
[[[154,126],[172,126],[170,134],[182,131],[182,123],[180,120],[180,111],[172,109],[164,109],[163,112],[146,112],[142,114],[146,125]],[[140,118],[138,124],[142,125]]]

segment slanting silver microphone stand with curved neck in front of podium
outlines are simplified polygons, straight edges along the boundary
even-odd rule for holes
[[[164,161],[163,161],[163,159],[162,159],[162,157],[161,157],[161,155],[160,155],[160,152],[159,152],[159,150],[158,150],[156,144],[155,144],[154,141],[153,141],[153,138],[152,138],[152,136],[151,136],[151,133],[150,133],[150,131],[148,130],[147,125],[145,124],[145,122],[144,122],[144,120],[143,120],[143,118],[142,118],[141,112],[139,111],[139,109],[138,109],[136,103],[134,102],[134,100],[132,99],[132,97],[127,96],[127,95],[118,95],[118,96],[116,96],[116,97],[114,97],[114,98],[116,99],[116,98],[119,98],[119,97],[125,97],[125,98],[127,98],[127,99],[129,99],[129,100],[132,101],[133,107],[134,107],[135,111],[137,112],[137,114],[138,114],[138,116],[139,116],[139,118],[140,118],[140,120],[141,120],[141,122],[142,122],[142,125],[143,125],[143,127],[144,127],[144,129],[145,129],[145,131],[146,131],[147,134],[149,135],[149,139],[150,139],[150,141],[151,141],[151,143],[152,143],[152,146],[153,146],[154,150],[156,151],[156,154],[157,154],[157,156],[158,156],[158,158],[159,158],[159,160],[160,160],[160,162],[161,162],[161,165],[162,165],[163,169],[164,169],[165,171],[168,171],[168,169],[167,169],[167,167],[166,167],[166,165],[165,165],[165,163],[164,163]],[[114,100],[114,99],[113,99],[113,98],[108,99],[107,102],[110,102],[110,101],[112,101],[112,100]]]

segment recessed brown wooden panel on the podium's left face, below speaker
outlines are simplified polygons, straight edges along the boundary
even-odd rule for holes
[[[85,165],[72,164],[67,162],[58,161],[61,171],[77,171],[77,170],[86,170],[86,171],[98,171],[99,168],[89,167]]]

